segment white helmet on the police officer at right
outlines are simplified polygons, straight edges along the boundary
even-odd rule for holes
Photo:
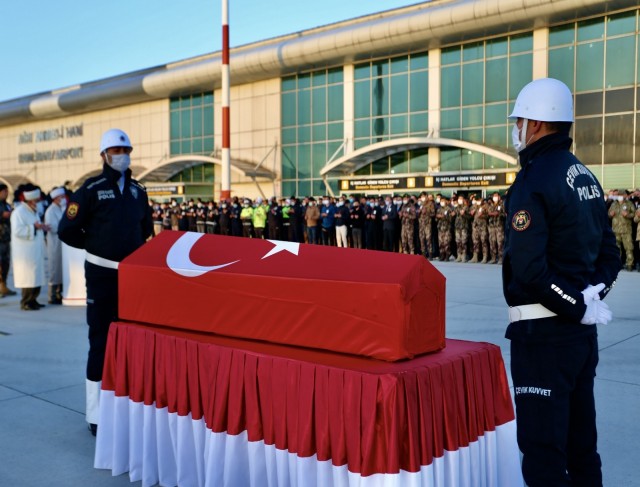
[[[554,78],[533,80],[516,98],[509,118],[538,122],[573,122],[573,95],[569,87]]]

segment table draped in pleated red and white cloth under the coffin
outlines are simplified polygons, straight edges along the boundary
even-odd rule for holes
[[[128,322],[94,466],[143,486],[522,485],[495,345],[388,363]]]

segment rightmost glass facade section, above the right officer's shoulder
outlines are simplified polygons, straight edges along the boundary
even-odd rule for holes
[[[638,11],[549,29],[549,76],[574,92],[576,156],[605,188],[627,188],[639,162]]]

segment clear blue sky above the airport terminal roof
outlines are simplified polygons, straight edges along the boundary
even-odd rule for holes
[[[230,46],[420,0],[228,0]],[[0,0],[0,101],[222,48],[221,0]]]

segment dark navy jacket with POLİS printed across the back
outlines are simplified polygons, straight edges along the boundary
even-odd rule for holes
[[[569,152],[571,143],[551,134],[520,153],[522,170],[505,203],[502,276],[509,306],[540,303],[579,324],[581,291],[602,282],[604,298],[621,262],[602,187]]]

